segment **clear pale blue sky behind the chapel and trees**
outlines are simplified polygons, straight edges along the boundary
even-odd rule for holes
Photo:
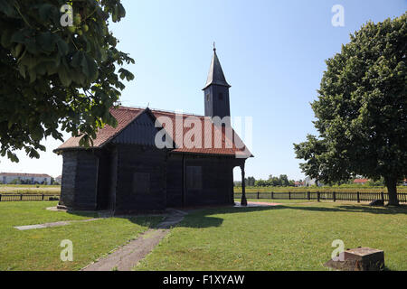
[[[253,117],[255,158],[247,162],[247,175],[285,173],[296,180],[304,175],[292,144],[316,133],[309,103],[317,98],[325,60],[366,21],[407,10],[406,0],[124,0],[123,5],[126,18],[110,28],[119,49],[136,60],[128,67],[136,79],[127,84],[122,104],[203,115],[201,89],[216,42],[232,85],[232,117]],[[333,5],[344,6],[345,27],[331,24]],[[0,158],[0,172],[61,174],[62,157],[52,153],[60,142],[44,144],[40,160],[23,153],[18,164]]]

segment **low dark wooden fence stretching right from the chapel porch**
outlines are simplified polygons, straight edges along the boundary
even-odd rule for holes
[[[234,193],[235,198],[241,198],[241,192]],[[399,192],[397,197],[400,202],[407,202],[407,193]],[[359,191],[288,191],[288,192],[246,192],[247,199],[269,200],[347,200],[347,201],[388,201],[389,195],[382,192],[359,192]]]

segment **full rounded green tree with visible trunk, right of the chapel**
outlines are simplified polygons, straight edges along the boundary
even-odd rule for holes
[[[312,103],[318,136],[294,144],[300,167],[322,182],[384,178],[389,204],[407,175],[407,14],[366,23],[328,59]]]

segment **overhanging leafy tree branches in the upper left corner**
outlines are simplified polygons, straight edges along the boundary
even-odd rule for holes
[[[126,14],[120,0],[0,0],[0,154],[39,157],[44,137],[62,131],[89,145],[118,104],[120,66],[134,63],[116,49],[109,21]]]

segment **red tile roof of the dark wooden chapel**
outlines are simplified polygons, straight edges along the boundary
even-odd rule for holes
[[[125,129],[128,125],[130,125],[133,120],[135,120],[138,116],[140,116],[144,111],[147,109],[143,108],[133,108],[133,107],[118,107],[112,108],[110,113],[113,117],[118,120],[118,126],[105,126],[99,130],[96,134],[96,139],[93,140],[93,148],[102,147],[104,144],[108,144],[115,136],[117,136],[123,129]],[[173,132],[169,132],[167,129],[167,134],[173,136],[173,140],[175,142],[175,149],[173,152],[179,153],[190,153],[190,154],[228,154],[228,155],[239,155],[241,157],[247,158],[251,156],[251,153],[246,149],[245,146],[243,148],[239,148],[239,145],[236,143],[241,141],[239,136],[234,133],[234,137],[232,139],[228,137],[225,133],[224,126],[222,128],[222,132],[220,131],[220,127],[214,126],[211,119],[209,117],[202,117],[202,116],[194,116],[194,115],[186,115],[186,114],[176,114],[174,112],[166,112],[161,110],[149,110],[153,114],[154,117],[158,118],[158,121],[162,119],[162,117],[168,117],[173,124]],[[183,118],[183,121],[175,121],[175,117]],[[192,121],[200,122],[202,126],[202,140],[201,144],[202,147],[200,148],[188,148],[182,143],[180,144],[180,140],[183,140],[184,137],[181,134],[186,134],[191,127],[184,127],[184,121],[186,118],[189,118]],[[163,124],[163,127],[166,128],[166,124]],[[207,130],[205,127],[211,127],[211,129]],[[221,135],[222,145],[215,146],[214,139],[215,139],[215,132]],[[212,144],[206,145],[208,147],[205,148],[205,139],[211,139]],[[55,152],[59,152],[66,149],[74,149],[80,148],[79,145],[80,137],[71,137],[68,141],[58,147]],[[199,143],[199,142],[198,142]]]

